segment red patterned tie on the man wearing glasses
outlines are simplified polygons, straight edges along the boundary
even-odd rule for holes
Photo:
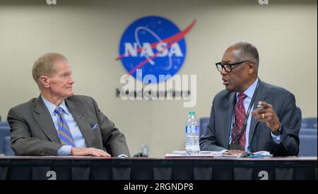
[[[235,104],[235,109],[234,109],[234,116],[235,116],[235,126],[236,126],[236,130],[237,130],[237,134],[240,134],[242,127],[243,127],[243,123],[244,123],[244,119],[245,119],[245,108],[244,108],[244,104],[243,104],[243,100],[247,97],[247,95],[245,95],[244,93],[240,93],[240,95],[238,95],[238,101]],[[232,142],[235,137],[235,133],[234,133],[235,128],[232,128]],[[240,146],[245,150],[245,142],[246,142],[246,138],[245,138],[245,134],[246,134],[246,129],[240,139]]]

